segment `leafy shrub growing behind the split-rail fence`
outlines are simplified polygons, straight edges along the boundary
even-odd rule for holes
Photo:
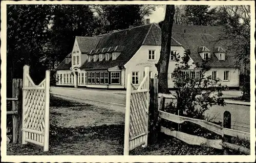
[[[205,72],[209,71],[206,62],[199,65],[189,65],[190,51],[186,50],[184,56],[177,56],[177,67],[174,70],[174,88],[172,94],[176,99],[176,105],[172,103],[167,107],[170,113],[179,114],[185,117],[204,120],[204,112],[212,105],[224,105],[221,98],[222,90],[225,89],[219,83],[219,79],[211,79]],[[196,71],[200,69],[200,75]],[[191,74],[189,74],[189,72]]]

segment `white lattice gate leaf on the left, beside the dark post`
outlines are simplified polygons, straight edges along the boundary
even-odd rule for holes
[[[29,76],[29,66],[23,72],[22,144],[33,143],[49,150],[50,72],[35,85]]]

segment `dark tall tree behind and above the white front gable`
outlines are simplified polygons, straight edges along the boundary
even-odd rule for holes
[[[51,12],[46,49],[54,68],[72,51],[75,36],[92,36],[98,24],[88,5],[54,5]]]

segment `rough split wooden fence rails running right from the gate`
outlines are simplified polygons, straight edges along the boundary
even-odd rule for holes
[[[228,135],[228,136],[239,137],[241,139],[250,141],[250,133],[242,132],[242,131],[238,131],[238,130],[232,130],[229,128],[224,128],[224,127],[221,127],[219,125],[216,125],[214,123],[210,123],[210,122],[207,122],[204,120],[191,119],[191,118],[182,117],[179,115],[164,112],[164,111],[162,111],[164,108],[164,101],[165,101],[164,99],[174,99],[174,97],[172,95],[166,95],[166,94],[159,94],[159,97],[160,97],[160,105],[159,105],[158,111],[159,111],[159,118],[161,118],[161,119],[172,121],[172,122],[175,122],[178,124],[181,124],[183,122],[191,122],[191,123],[200,125],[201,127],[204,127],[207,130],[215,132],[216,134],[219,134],[222,137],[224,137],[224,135]],[[205,145],[207,147],[212,147],[212,148],[216,148],[216,149],[228,148],[231,150],[236,150],[236,151],[242,152],[244,154],[250,154],[250,149],[242,147],[242,146],[230,144],[228,142],[224,142],[223,139],[207,139],[204,137],[191,135],[191,134],[187,134],[187,133],[176,131],[176,130],[170,130],[163,126],[161,126],[161,132],[163,132],[167,135],[170,135],[170,136],[174,136],[174,137],[180,139],[181,141],[183,141],[187,144],[190,144],[190,145],[199,145],[199,146]]]

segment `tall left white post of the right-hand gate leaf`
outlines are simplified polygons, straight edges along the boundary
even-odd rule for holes
[[[123,155],[129,155],[129,136],[130,136],[130,106],[131,106],[131,74],[127,75],[125,123],[124,123],[124,149]]]

